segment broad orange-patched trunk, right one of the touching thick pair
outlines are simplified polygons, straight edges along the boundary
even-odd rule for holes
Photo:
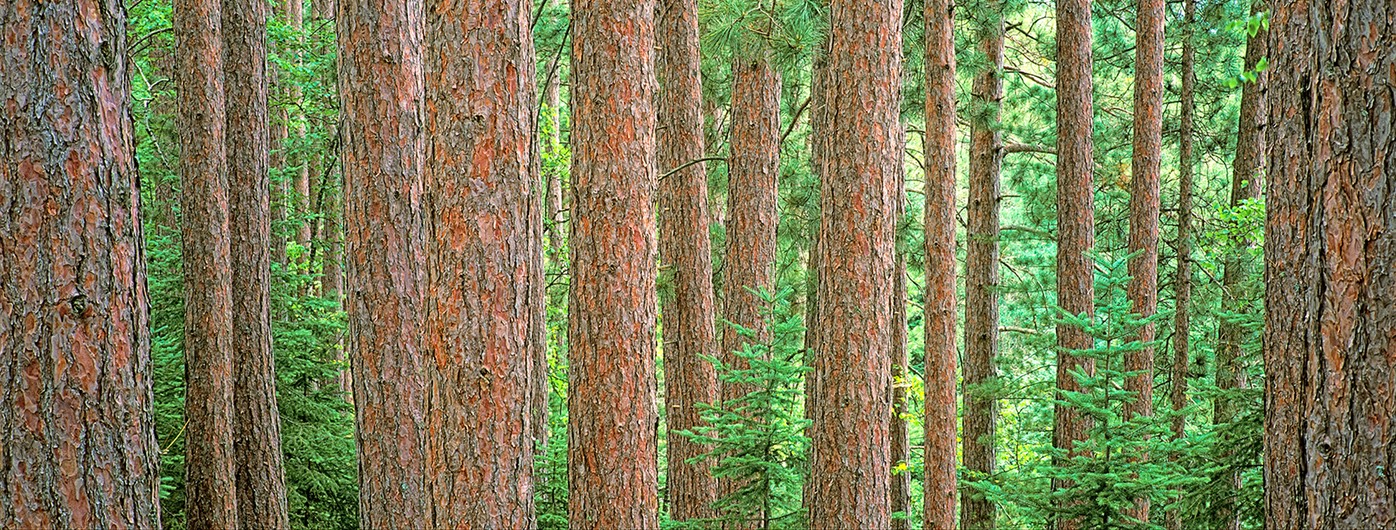
[[[426,13],[431,527],[535,526],[533,363],[544,314],[530,15],[525,0]]]

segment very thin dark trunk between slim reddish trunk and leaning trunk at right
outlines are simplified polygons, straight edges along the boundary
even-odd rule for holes
[[[1192,166],[1196,158],[1192,151],[1192,120],[1195,114],[1195,99],[1198,77],[1194,71],[1196,45],[1194,45],[1194,29],[1196,24],[1196,1],[1184,0],[1184,38],[1182,38],[1182,110],[1178,116],[1178,269],[1174,276],[1174,290],[1177,303],[1173,315],[1173,382],[1168,402],[1173,404],[1173,439],[1181,441],[1187,416],[1182,410],[1188,406],[1188,333],[1191,332],[1188,304],[1192,300]],[[1177,455],[1174,455],[1177,459]],[[1181,530],[1182,519],[1178,510],[1168,510],[1166,526],[1170,530]]]

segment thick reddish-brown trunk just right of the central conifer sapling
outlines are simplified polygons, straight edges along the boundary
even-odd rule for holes
[[[888,529],[902,1],[829,6],[810,526]],[[835,119],[836,117],[836,119]],[[884,411],[870,414],[870,411]],[[857,455],[857,457],[849,457]]]

